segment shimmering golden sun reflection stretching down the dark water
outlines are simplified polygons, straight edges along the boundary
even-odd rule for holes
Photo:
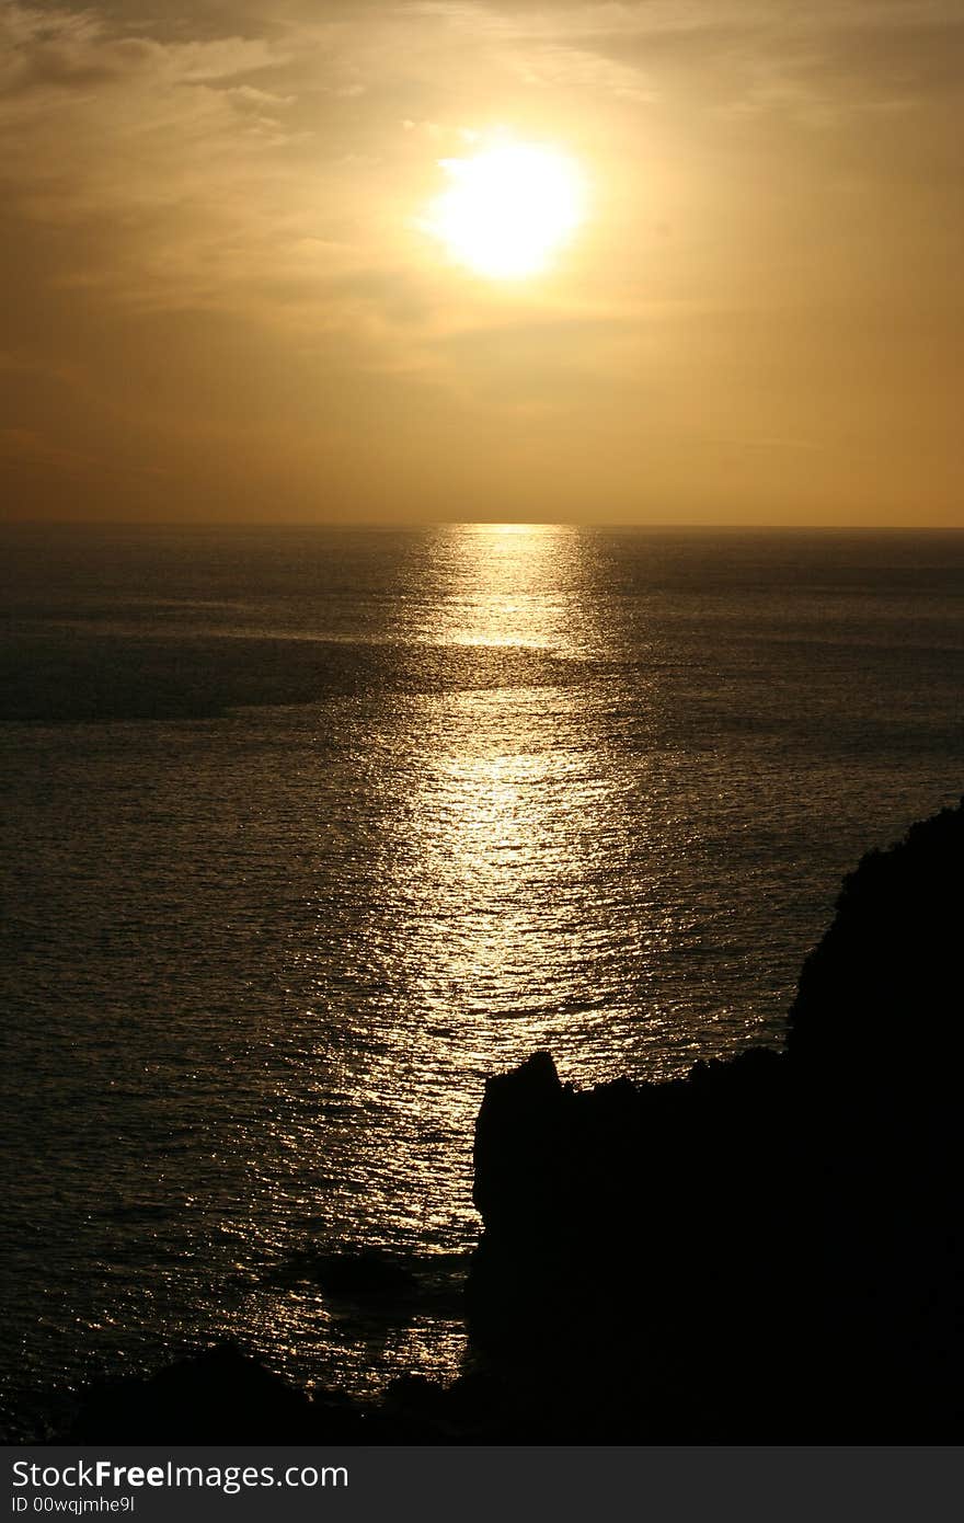
[[[626,902],[646,813],[630,827],[638,760],[614,739],[585,547],[548,525],[446,527],[419,576],[407,568],[420,591],[397,638],[448,652],[457,672],[468,646],[496,664],[481,687],[396,696],[355,758],[376,832],[346,847],[315,966],[326,1241],[468,1250],[487,1075],[548,1046],[563,1075],[594,1081],[624,1071],[630,1046],[672,1048],[658,1011],[641,1030],[634,987],[640,949],[678,928]],[[518,650],[535,661],[525,685],[512,666],[500,679]],[[641,678],[637,702],[647,694]],[[451,1374],[455,1323],[417,1325],[426,1349],[437,1339],[423,1368],[434,1357]],[[379,1346],[391,1362],[408,1340]],[[358,1351],[340,1359],[352,1378]]]

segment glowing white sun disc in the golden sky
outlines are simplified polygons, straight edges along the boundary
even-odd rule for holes
[[[583,218],[582,177],[554,148],[503,143],[471,158],[442,158],[440,168],[451,183],[422,225],[475,274],[538,274]]]

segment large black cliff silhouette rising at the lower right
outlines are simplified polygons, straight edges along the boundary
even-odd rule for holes
[[[554,1436],[959,1436],[962,879],[962,807],[867,856],[784,1054],[487,1083],[471,1328]]]

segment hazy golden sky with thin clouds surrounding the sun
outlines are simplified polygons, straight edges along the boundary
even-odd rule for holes
[[[0,0],[5,513],[964,525],[962,79],[961,0]],[[498,129],[528,280],[420,225]]]

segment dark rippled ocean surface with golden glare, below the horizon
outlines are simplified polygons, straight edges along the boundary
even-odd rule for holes
[[[224,1336],[356,1394],[455,1374],[486,1075],[778,1045],[841,876],[964,790],[964,533],[0,551],[20,1422]],[[297,1269],[365,1246],[419,1293]]]

